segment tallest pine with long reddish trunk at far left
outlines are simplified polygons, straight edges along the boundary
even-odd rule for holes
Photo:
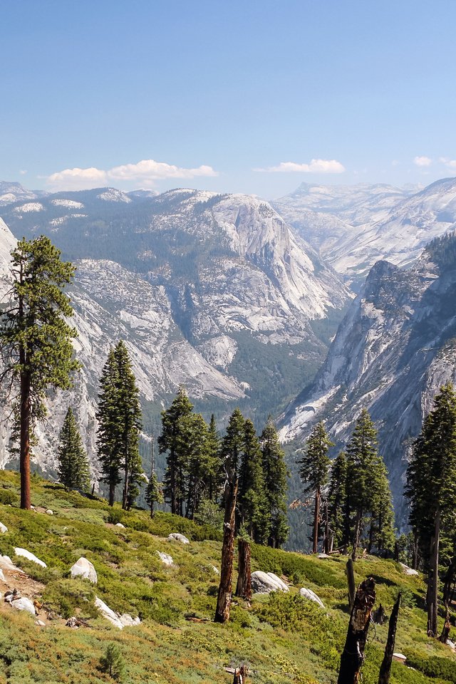
[[[13,284],[9,304],[0,318],[1,380],[18,388],[14,401],[19,437],[21,508],[29,509],[30,447],[37,420],[46,415],[46,390],[68,389],[79,368],[71,339],[76,330],[70,299],[63,289],[73,279],[74,267],[61,261],[61,252],[48,237],[22,239],[11,252]]]

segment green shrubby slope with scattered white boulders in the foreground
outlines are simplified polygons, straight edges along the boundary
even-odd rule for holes
[[[17,494],[18,484],[16,473],[0,472],[0,500],[5,489]],[[123,516],[126,529],[121,529],[107,524],[110,511],[104,502],[38,478],[33,478],[32,491],[33,504],[51,508],[54,515],[0,504],[0,522],[9,528],[0,537],[0,553],[43,583],[43,603],[63,616],[89,618],[90,628],[71,630],[61,621],[39,628],[31,616],[2,602],[0,684],[112,682],[98,663],[113,641],[123,651],[125,681],[131,684],[229,683],[224,665],[246,661],[257,670],[252,683],[336,682],[348,622],[345,559],[318,560],[254,546],[253,569],[285,574],[296,588],[290,594],[254,596],[252,608],[241,602],[232,608],[227,625],[215,625],[210,619],[218,585],[212,568],[219,567],[217,534],[207,539],[208,530],[169,514],[157,514],[150,522],[145,512],[115,509]],[[177,531],[192,539],[190,546],[166,541],[167,534]],[[15,558],[14,546],[32,551],[48,568]],[[157,550],[172,554],[176,566],[164,566]],[[98,572],[95,589],[86,581],[68,579],[69,567],[81,555]],[[357,561],[357,581],[368,575],[378,582],[378,601],[388,613],[398,590],[403,591],[396,650],[421,670],[441,673],[440,679],[430,679],[393,663],[391,684],[456,682],[456,656],[425,636],[423,581],[405,576],[391,561]],[[314,589],[327,611],[300,598],[300,586]],[[123,631],[110,626],[96,615],[94,593],[115,611],[139,614],[142,624]],[[185,616],[209,621],[194,623]],[[387,626],[377,626],[376,633],[371,628],[363,684],[377,682],[386,633]]]

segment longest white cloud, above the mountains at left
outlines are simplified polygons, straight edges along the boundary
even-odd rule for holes
[[[47,182],[53,190],[86,190],[111,181],[141,181],[152,185],[155,180],[166,178],[195,178],[197,176],[217,176],[212,166],[202,165],[196,169],[185,169],[153,159],[143,159],[137,164],[124,164],[103,170],[95,167],[88,169],[65,169],[48,176]]]

